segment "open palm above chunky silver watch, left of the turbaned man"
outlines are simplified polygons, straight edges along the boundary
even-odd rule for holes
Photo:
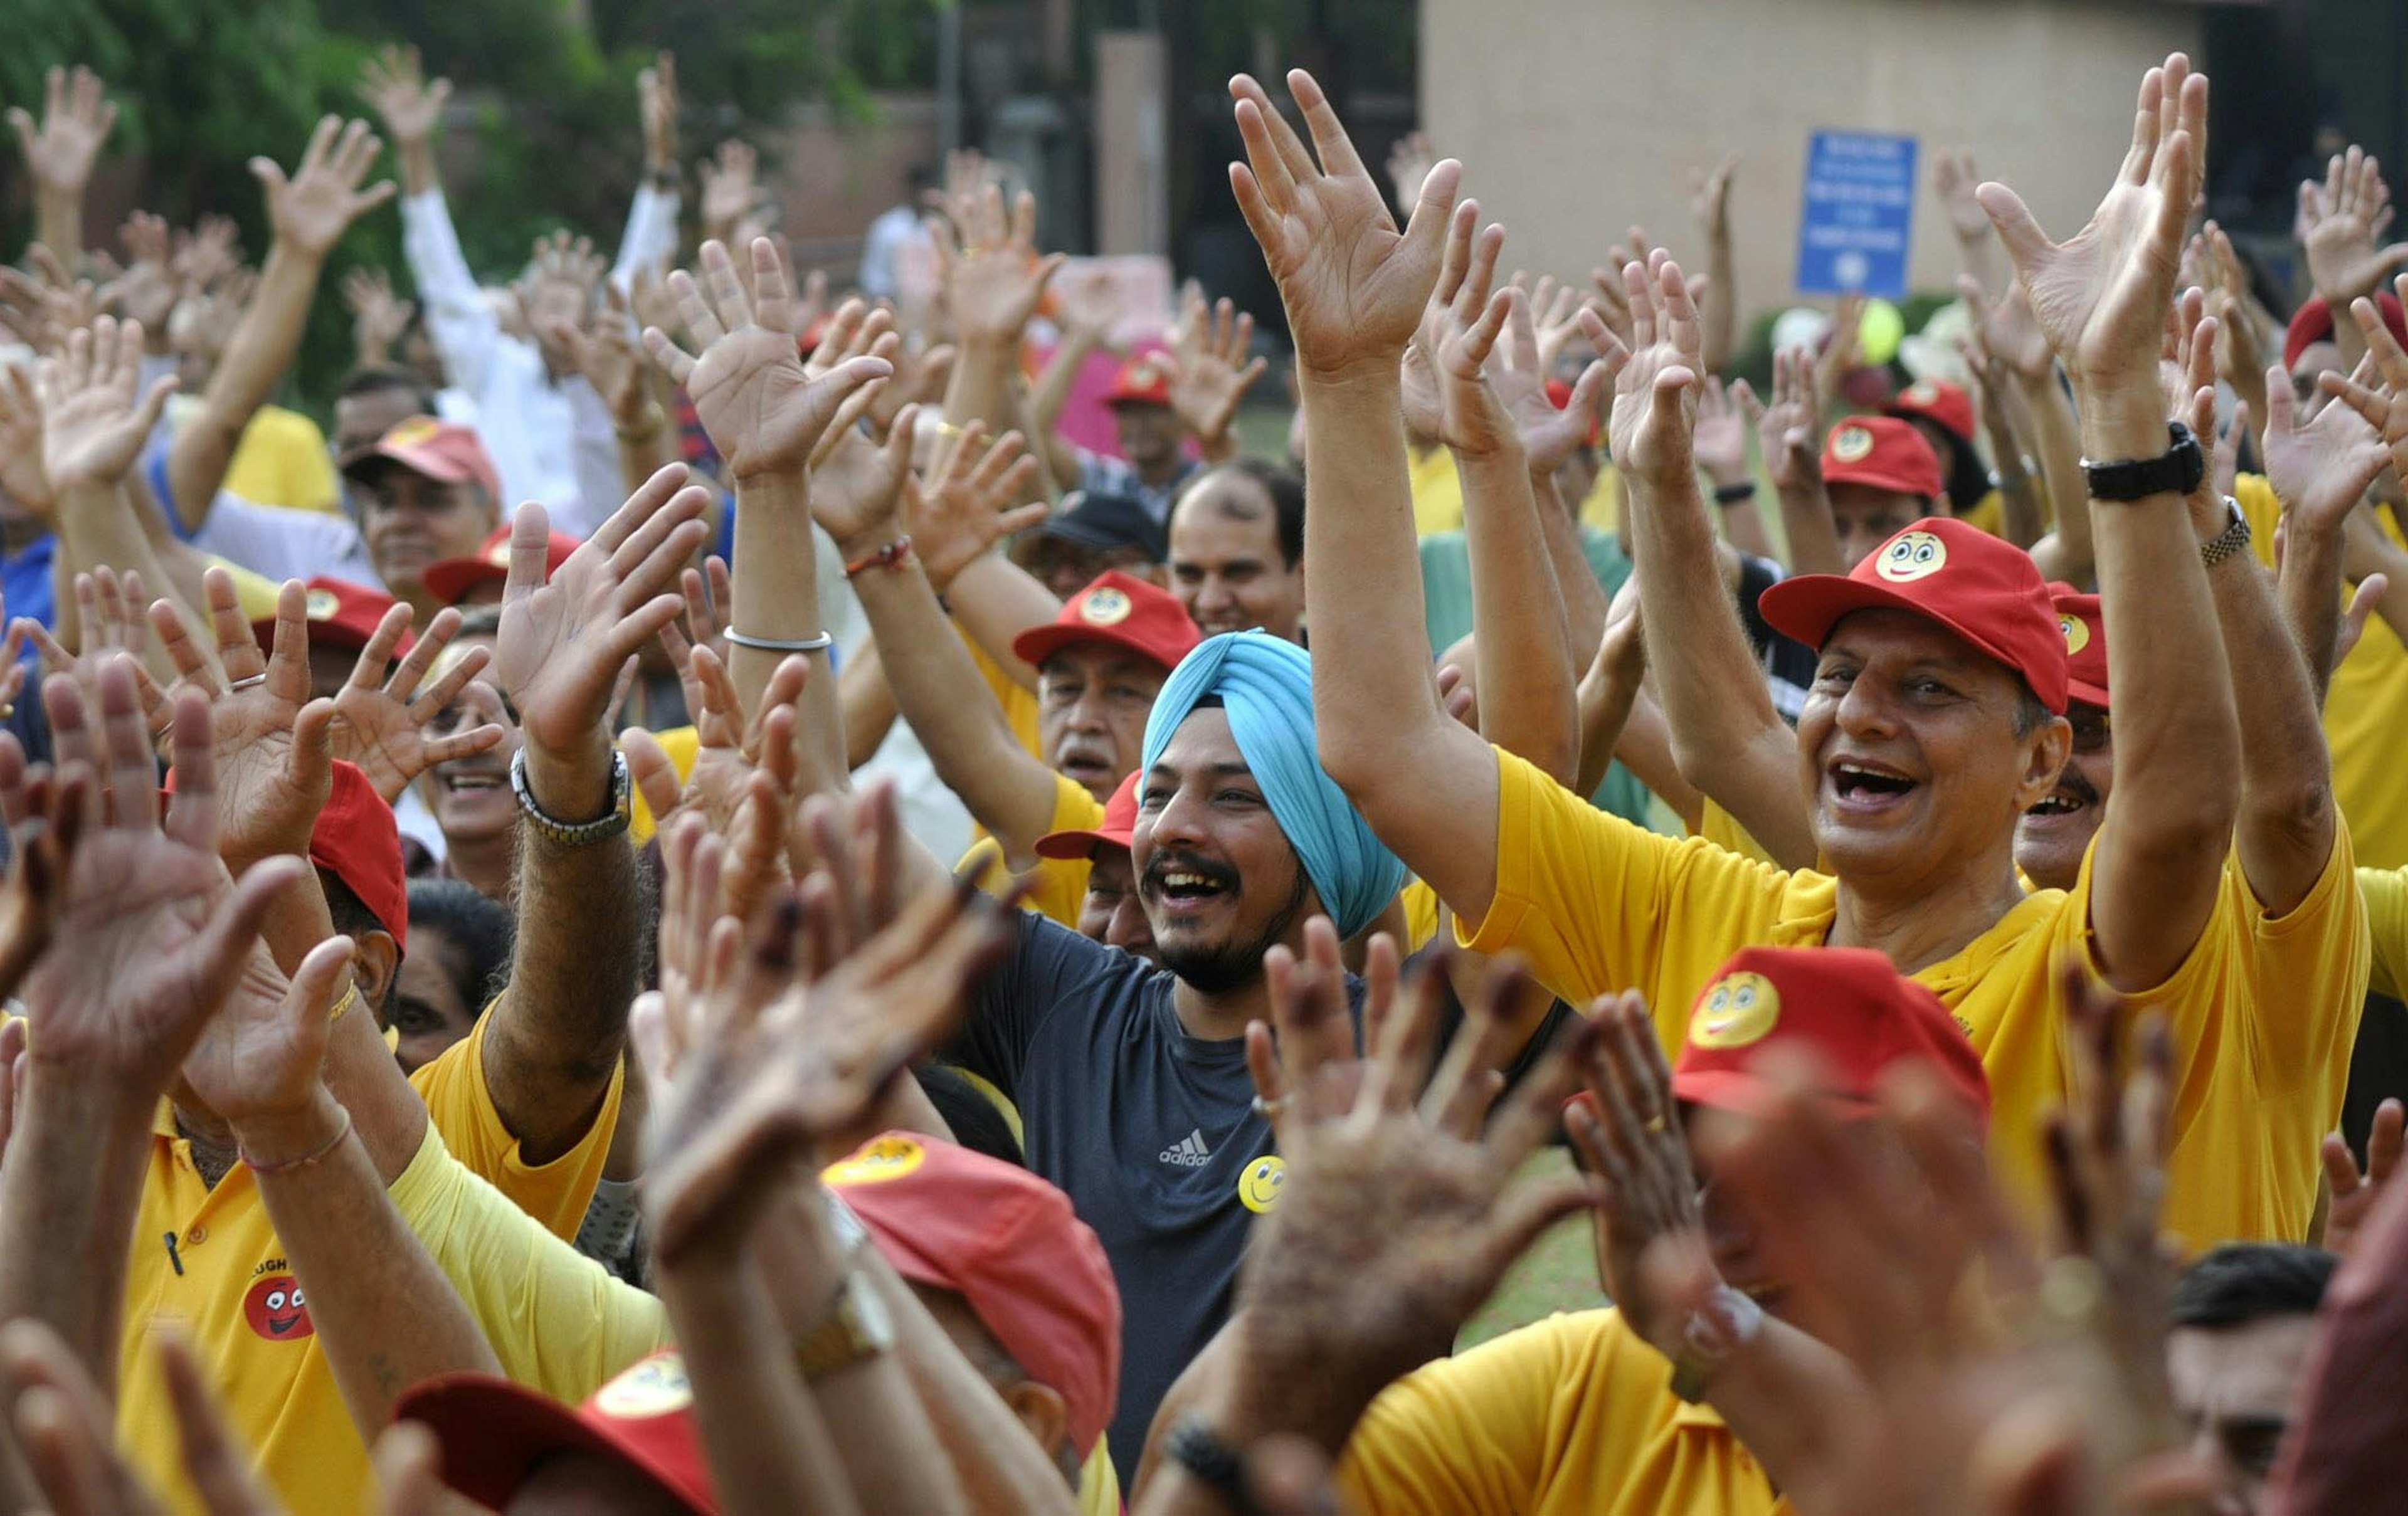
[[[607,804],[612,688],[626,662],[686,609],[677,573],[703,544],[708,503],[708,491],[686,484],[686,467],[669,464],[554,573],[544,568],[551,537],[544,508],[523,505],[510,525],[494,676],[527,734],[527,782],[537,799],[539,768],[585,765],[578,794],[568,797],[576,809],[554,816],[590,821]]]

